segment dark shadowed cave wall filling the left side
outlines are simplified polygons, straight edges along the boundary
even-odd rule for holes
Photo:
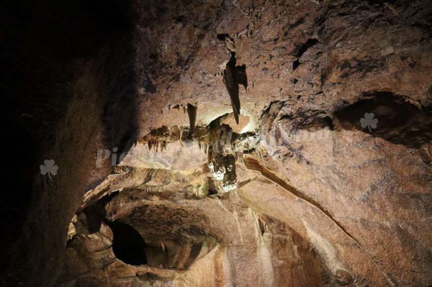
[[[90,174],[98,147],[119,146],[133,127],[133,109],[111,109],[115,125],[104,118],[108,100],[125,105],[133,13],[127,2],[1,6],[2,147],[9,162],[1,208],[2,285],[49,286],[59,274],[82,195],[109,172]],[[52,179],[39,169],[46,159],[58,166]]]

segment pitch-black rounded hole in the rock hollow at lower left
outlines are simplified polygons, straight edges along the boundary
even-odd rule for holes
[[[127,264],[147,264],[144,252],[147,244],[139,232],[132,226],[117,221],[110,222],[108,225],[114,235],[112,240],[114,255]]]

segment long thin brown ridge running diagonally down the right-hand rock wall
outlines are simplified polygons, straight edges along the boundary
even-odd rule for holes
[[[263,177],[265,177],[267,180],[269,180],[270,182],[276,184],[277,186],[280,186],[281,188],[285,189],[286,191],[288,191],[289,193],[291,193],[292,195],[294,195],[297,198],[300,198],[308,203],[310,203],[311,205],[315,206],[318,210],[320,210],[322,213],[324,213],[324,215],[331,220],[347,237],[349,237],[351,240],[353,240],[359,247],[360,249],[363,251],[364,254],[366,254],[374,263],[374,265],[380,270],[380,272],[385,276],[385,278],[387,279],[387,281],[390,283],[391,286],[394,286],[393,281],[390,279],[390,277],[384,273],[384,271],[378,266],[378,263],[372,258],[371,255],[369,255],[369,253],[363,248],[363,246],[361,246],[360,242],[357,241],[357,239],[355,239],[343,226],[342,224],[340,224],[337,220],[335,220],[333,218],[333,216],[330,214],[330,212],[328,212],[326,209],[324,209],[324,207],[321,206],[320,203],[318,203],[317,201],[315,201],[314,199],[302,194],[301,192],[299,192],[298,190],[296,190],[295,188],[293,188],[292,186],[290,186],[286,181],[284,181],[279,175],[276,175],[276,173],[274,171],[272,171],[271,169],[265,167],[264,165],[262,165],[259,160],[253,158],[252,156],[249,155],[244,155],[243,156],[243,162],[244,165],[246,166],[247,169],[257,172],[259,174],[261,174]]]

